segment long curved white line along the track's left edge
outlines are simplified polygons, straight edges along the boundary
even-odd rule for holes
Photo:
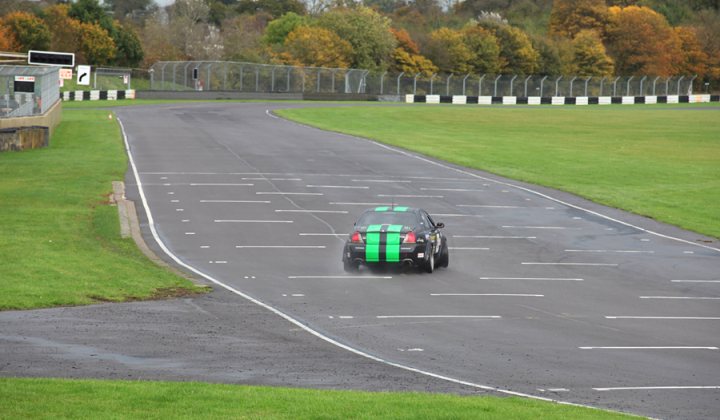
[[[595,407],[592,407],[592,406],[589,406],[589,405],[575,404],[575,403],[570,403],[570,402],[566,402],[566,401],[558,401],[558,400],[555,400],[555,399],[552,399],[552,398],[540,397],[540,396],[537,396],[537,395],[526,394],[526,393],[523,393],[523,392],[511,391],[511,390],[508,390],[508,389],[497,388],[497,387],[493,387],[493,386],[487,386],[487,385],[478,384],[478,383],[475,383],[475,382],[464,381],[464,380],[461,380],[461,379],[452,378],[452,377],[449,377],[449,376],[440,375],[440,374],[433,373],[433,372],[430,372],[430,371],[426,371],[426,370],[414,368],[414,367],[412,367],[412,366],[408,366],[408,365],[404,365],[404,364],[392,362],[392,361],[390,361],[390,360],[386,360],[386,359],[383,359],[383,358],[381,358],[381,357],[373,356],[373,355],[370,354],[370,353],[367,353],[367,352],[364,352],[364,351],[362,351],[362,350],[359,350],[359,349],[350,347],[350,346],[348,346],[348,345],[346,345],[346,344],[343,344],[343,343],[341,343],[341,342],[339,342],[339,341],[337,341],[337,340],[334,340],[334,339],[330,338],[329,336],[327,336],[327,335],[325,335],[325,334],[322,334],[322,333],[320,333],[319,331],[316,331],[316,330],[310,328],[310,327],[307,326],[305,323],[303,323],[303,322],[301,322],[300,320],[295,319],[294,317],[292,317],[292,316],[290,316],[290,315],[288,315],[288,314],[280,311],[279,309],[277,309],[277,308],[275,308],[275,307],[273,307],[273,306],[270,306],[270,305],[268,305],[268,304],[266,304],[266,303],[264,303],[264,302],[262,302],[262,301],[260,301],[260,300],[258,300],[258,299],[256,299],[256,298],[254,298],[254,297],[252,297],[252,296],[250,296],[250,295],[248,295],[248,294],[246,294],[246,293],[243,293],[243,292],[241,292],[240,290],[237,290],[237,289],[233,288],[232,286],[229,286],[229,285],[227,285],[227,284],[225,284],[225,283],[217,280],[216,278],[210,276],[209,274],[206,274],[206,273],[203,272],[203,271],[198,270],[197,268],[195,268],[195,267],[193,267],[193,266],[191,266],[191,265],[189,265],[189,264],[186,264],[183,260],[181,260],[178,256],[176,256],[172,251],[170,251],[170,249],[165,245],[165,243],[162,241],[162,239],[160,238],[160,235],[159,235],[158,232],[157,232],[157,229],[156,229],[156,227],[155,227],[155,220],[154,220],[154,218],[153,218],[153,216],[152,216],[152,212],[150,211],[150,207],[149,207],[148,202],[147,202],[147,197],[145,196],[145,191],[144,191],[144,189],[143,189],[142,182],[140,181],[140,174],[138,173],[137,166],[135,165],[135,159],[133,158],[132,152],[130,151],[130,143],[128,142],[127,134],[126,134],[126,132],[125,132],[125,126],[123,125],[123,123],[122,123],[122,121],[120,120],[120,118],[116,118],[116,120],[117,120],[118,124],[120,124],[120,130],[122,131],[123,140],[124,140],[124,143],[125,143],[125,152],[126,152],[127,155],[128,155],[128,160],[129,160],[129,162],[130,162],[130,166],[131,166],[132,171],[133,171],[133,174],[134,174],[134,176],[135,176],[135,181],[137,182],[138,192],[139,192],[139,194],[140,194],[140,199],[141,199],[141,201],[142,201],[143,208],[145,209],[145,213],[147,214],[148,227],[150,228],[150,232],[152,233],[153,238],[155,238],[155,241],[157,242],[158,246],[163,250],[163,252],[165,252],[173,261],[175,261],[175,262],[176,262],[178,265],[180,265],[181,267],[184,267],[184,268],[190,270],[191,272],[193,272],[193,273],[195,273],[195,274],[197,274],[197,275],[199,275],[199,276],[207,279],[208,281],[210,281],[210,282],[212,282],[212,283],[214,283],[214,284],[216,284],[216,285],[224,288],[225,290],[228,290],[228,291],[231,292],[231,293],[234,293],[234,294],[236,294],[236,295],[238,295],[238,296],[240,296],[240,297],[248,300],[249,302],[255,303],[256,305],[258,305],[258,306],[260,306],[260,307],[262,307],[262,308],[267,309],[268,311],[270,311],[270,312],[272,312],[272,313],[280,316],[281,318],[285,319],[285,320],[288,321],[289,323],[295,325],[296,327],[298,327],[298,328],[300,328],[300,329],[308,332],[309,334],[311,334],[311,335],[313,335],[313,336],[315,336],[315,337],[317,337],[317,338],[319,338],[319,339],[321,339],[321,340],[324,340],[325,342],[327,342],[327,343],[329,343],[329,344],[332,344],[332,345],[334,345],[334,346],[336,346],[336,347],[338,347],[338,348],[341,348],[341,349],[343,349],[343,350],[349,351],[349,352],[351,352],[351,353],[353,353],[353,354],[356,354],[356,355],[358,355],[358,356],[364,357],[364,358],[366,358],[366,359],[368,359],[368,360],[373,360],[373,361],[375,361],[375,362],[382,363],[382,364],[384,364],[384,365],[386,365],[386,366],[396,367],[396,368],[398,368],[398,369],[403,369],[403,370],[408,371],[408,372],[414,372],[414,373],[421,374],[421,375],[425,375],[425,376],[428,376],[428,377],[431,377],[431,378],[440,379],[440,380],[444,380],[444,381],[447,381],[447,382],[452,382],[452,383],[455,383],[455,384],[458,384],[458,385],[468,386],[468,387],[472,387],[472,388],[476,388],[476,389],[482,389],[482,390],[485,390],[485,391],[495,391],[495,392],[499,392],[499,393],[506,394],[506,395],[513,395],[513,396],[518,396],[518,397],[532,398],[532,399],[539,400],[539,401],[548,401],[548,402],[555,402],[555,403],[564,404],[564,405],[570,405],[570,406],[576,406],[576,407],[587,407],[587,408],[593,408],[593,409],[595,409]],[[353,137],[353,138],[355,138],[355,137]],[[379,143],[376,143],[376,142],[372,142],[372,143],[379,145]],[[383,146],[384,146],[384,145],[383,145]],[[392,149],[392,148],[389,148],[389,147],[388,147],[387,149],[389,149],[389,150],[395,150],[395,149]],[[395,151],[397,151],[397,150],[395,150]],[[399,152],[399,151],[398,151],[398,152]],[[408,154],[408,155],[409,155],[409,154]],[[410,155],[410,156],[412,156],[412,155]],[[428,162],[432,162],[432,161],[428,161]],[[433,164],[434,164],[434,163],[433,163]],[[448,166],[444,166],[444,167],[450,168],[450,167],[448,167]],[[475,176],[475,175],[473,175],[473,176]]]

